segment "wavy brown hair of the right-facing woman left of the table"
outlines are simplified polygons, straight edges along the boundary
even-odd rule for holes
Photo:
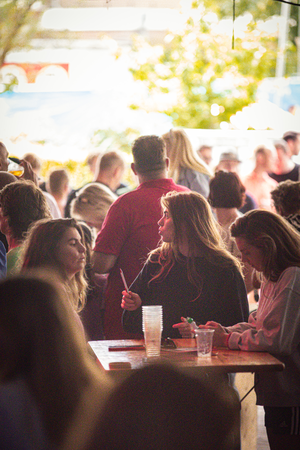
[[[75,219],[44,219],[36,222],[24,242],[21,271],[50,268],[59,274],[76,311],[83,309],[86,300],[87,282],[84,269],[69,280],[57,258],[57,250],[66,230],[76,228],[85,245],[81,226]]]

